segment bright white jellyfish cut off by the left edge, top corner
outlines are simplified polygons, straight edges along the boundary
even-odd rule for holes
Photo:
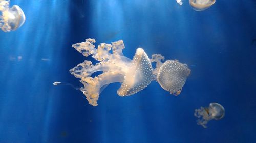
[[[17,30],[25,20],[24,12],[19,6],[9,8],[9,0],[0,0],[0,28],[4,32]]]

